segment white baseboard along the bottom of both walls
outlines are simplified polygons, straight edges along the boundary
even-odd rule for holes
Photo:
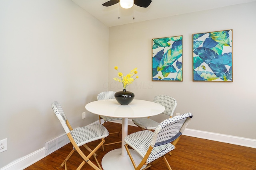
[[[122,123],[122,121],[113,121],[113,122]],[[91,124],[94,124],[94,123],[99,123],[99,121],[95,121]],[[100,123],[102,124],[103,121],[101,121]],[[136,126],[131,119],[128,119],[128,125]],[[202,138],[202,139],[208,139],[208,140],[218,141],[223,143],[230,143],[230,144],[240,145],[244,147],[256,148],[255,139],[223,135],[219,133],[212,133],[212,132],[206,132],[206,131],[198,131],[194,129],[185,129],[183,135]],[[23,170],[24,168],[27,168],[28,166],[34,164],[38,160],[44,158],[46,156],[45,150],[46,150],[45,147],[43,147],[42,149],[36,150],[35,152],[28,154],[27,156],[24,156],[23,158],[20,158],[12,162],[11,164],[1,168],[0,170]]]

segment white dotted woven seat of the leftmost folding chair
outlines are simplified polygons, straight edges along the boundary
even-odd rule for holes
[[[93,124],[84,127],[78,127],[70,131],[70,133],[78,147],[86,143],[105,138],[109,135],[109,132],[106,129],[106,127],[102,126],[101,124]]]

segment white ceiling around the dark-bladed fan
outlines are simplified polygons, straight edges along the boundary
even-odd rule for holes
[[[211,10],[236,4],[254,2],[256,0],[152,0],[148,8],[134,6],[130,9],[123,9],[119,3],[105,7],[103,3],[108,0],[72,0],[81,8],[92,14],[108,27],[134,23],[156,18],[164,18],[190,12]],[[119,16],[118,19],[118,8]],[[218,14],[221,16],[221,14]],[[232,14],[230,14],[232,15]],[[135,19],[133,20],[133,16]]]

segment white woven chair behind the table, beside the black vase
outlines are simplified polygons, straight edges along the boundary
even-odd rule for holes
[[[115,99],[115,93],[114,91],[106,91],[106,92],[101,92],[98,94],[97,96],[97,99],[98,100],[109,100],[109,99]],[[119,118],[119,117],[109,117],[109,116],[102,116],[102,115],[99,115],[99,121],[100,119],[103,119],[104,120],[104,123],[102,125],[105,125],[106,122],[108,121],[116,121],[116,120],[122,120],[122,118]],[[115,133],[120,133],[122,131],[122,127],[121,129],[118,131],[118,132],[112,132],[110,133],[111,134],[115,134]],[[104,144],[102,145],[102,149],[104,151],[104,146],[106,145],[112,145],[112,144],[116,144],[116,143],[121,143],[122,141],[118,141],[118,142],[113,142],[113,143],[107,143],[107,144]]]

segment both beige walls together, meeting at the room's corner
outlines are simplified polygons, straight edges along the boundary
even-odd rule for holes
[[[108,29],[70,0],[0,0],[0,140],[8,138],[0,168],[64,133],[53,101],[73,127],[96,121],[90,113],[81,119],[84,105],[101,91],[122,90],[112,79],[114,66],[138,67],[140,78],[128,87],[136,99],[168,94],[178,101],[176,112],[194,113],[188,128],[256,139],[255,8],[249,3]],[[234,82],[192,82],[192,34],[224,29],[234,32]],[[183,35],[183,82],[152,82],[152,38],[176,35]]]

